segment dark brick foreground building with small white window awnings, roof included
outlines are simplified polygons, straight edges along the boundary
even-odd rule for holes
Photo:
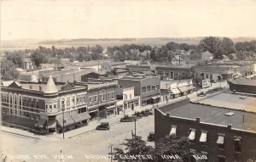
[[[256,115],[189,103],[189,98],[154,110],[155,138],[176,135],[189,138],[191,154],[208,161],[256,160]]]

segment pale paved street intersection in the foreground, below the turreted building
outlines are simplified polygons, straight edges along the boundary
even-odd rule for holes
[[[113,148],[120,148],[119,143],[124,142],[125,138],[131,138],[131,130],[134,130],[134,122],[118,122],[113,124],[109,131],[90,131],[77,137],[52,142],[2,132],[1,146],[4,154],[8,154],[9,159],[12,158],[9,161],[110,161],[110,159],[86,159],[84,155],[107,155],[110,152],[110,144],[114,144]],[[137,120],[137,136],[146,140],[149,131],[154,131],[153,115]],[[153,142],[149,144],[154,145]],[[55,159],[56,154],[67,155],[72,159],[68,159],[67,156],[66,160],[63,157]],[[34,155],[41,155],[43,159],[36,159]]]

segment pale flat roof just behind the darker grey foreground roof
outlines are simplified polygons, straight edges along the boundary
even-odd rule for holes
[[[210,98],[202,98],[195,103],[256,113],[256,98],[246,97],[245,99],[242,99],[241,97],[245,96],[239,94],[218,93]]]

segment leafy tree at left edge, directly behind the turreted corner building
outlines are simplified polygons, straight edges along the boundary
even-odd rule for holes
[[[19,77],[19,71],[11,60],[7,60],[1,64],[1,75],[3,81],[15,80]]]

